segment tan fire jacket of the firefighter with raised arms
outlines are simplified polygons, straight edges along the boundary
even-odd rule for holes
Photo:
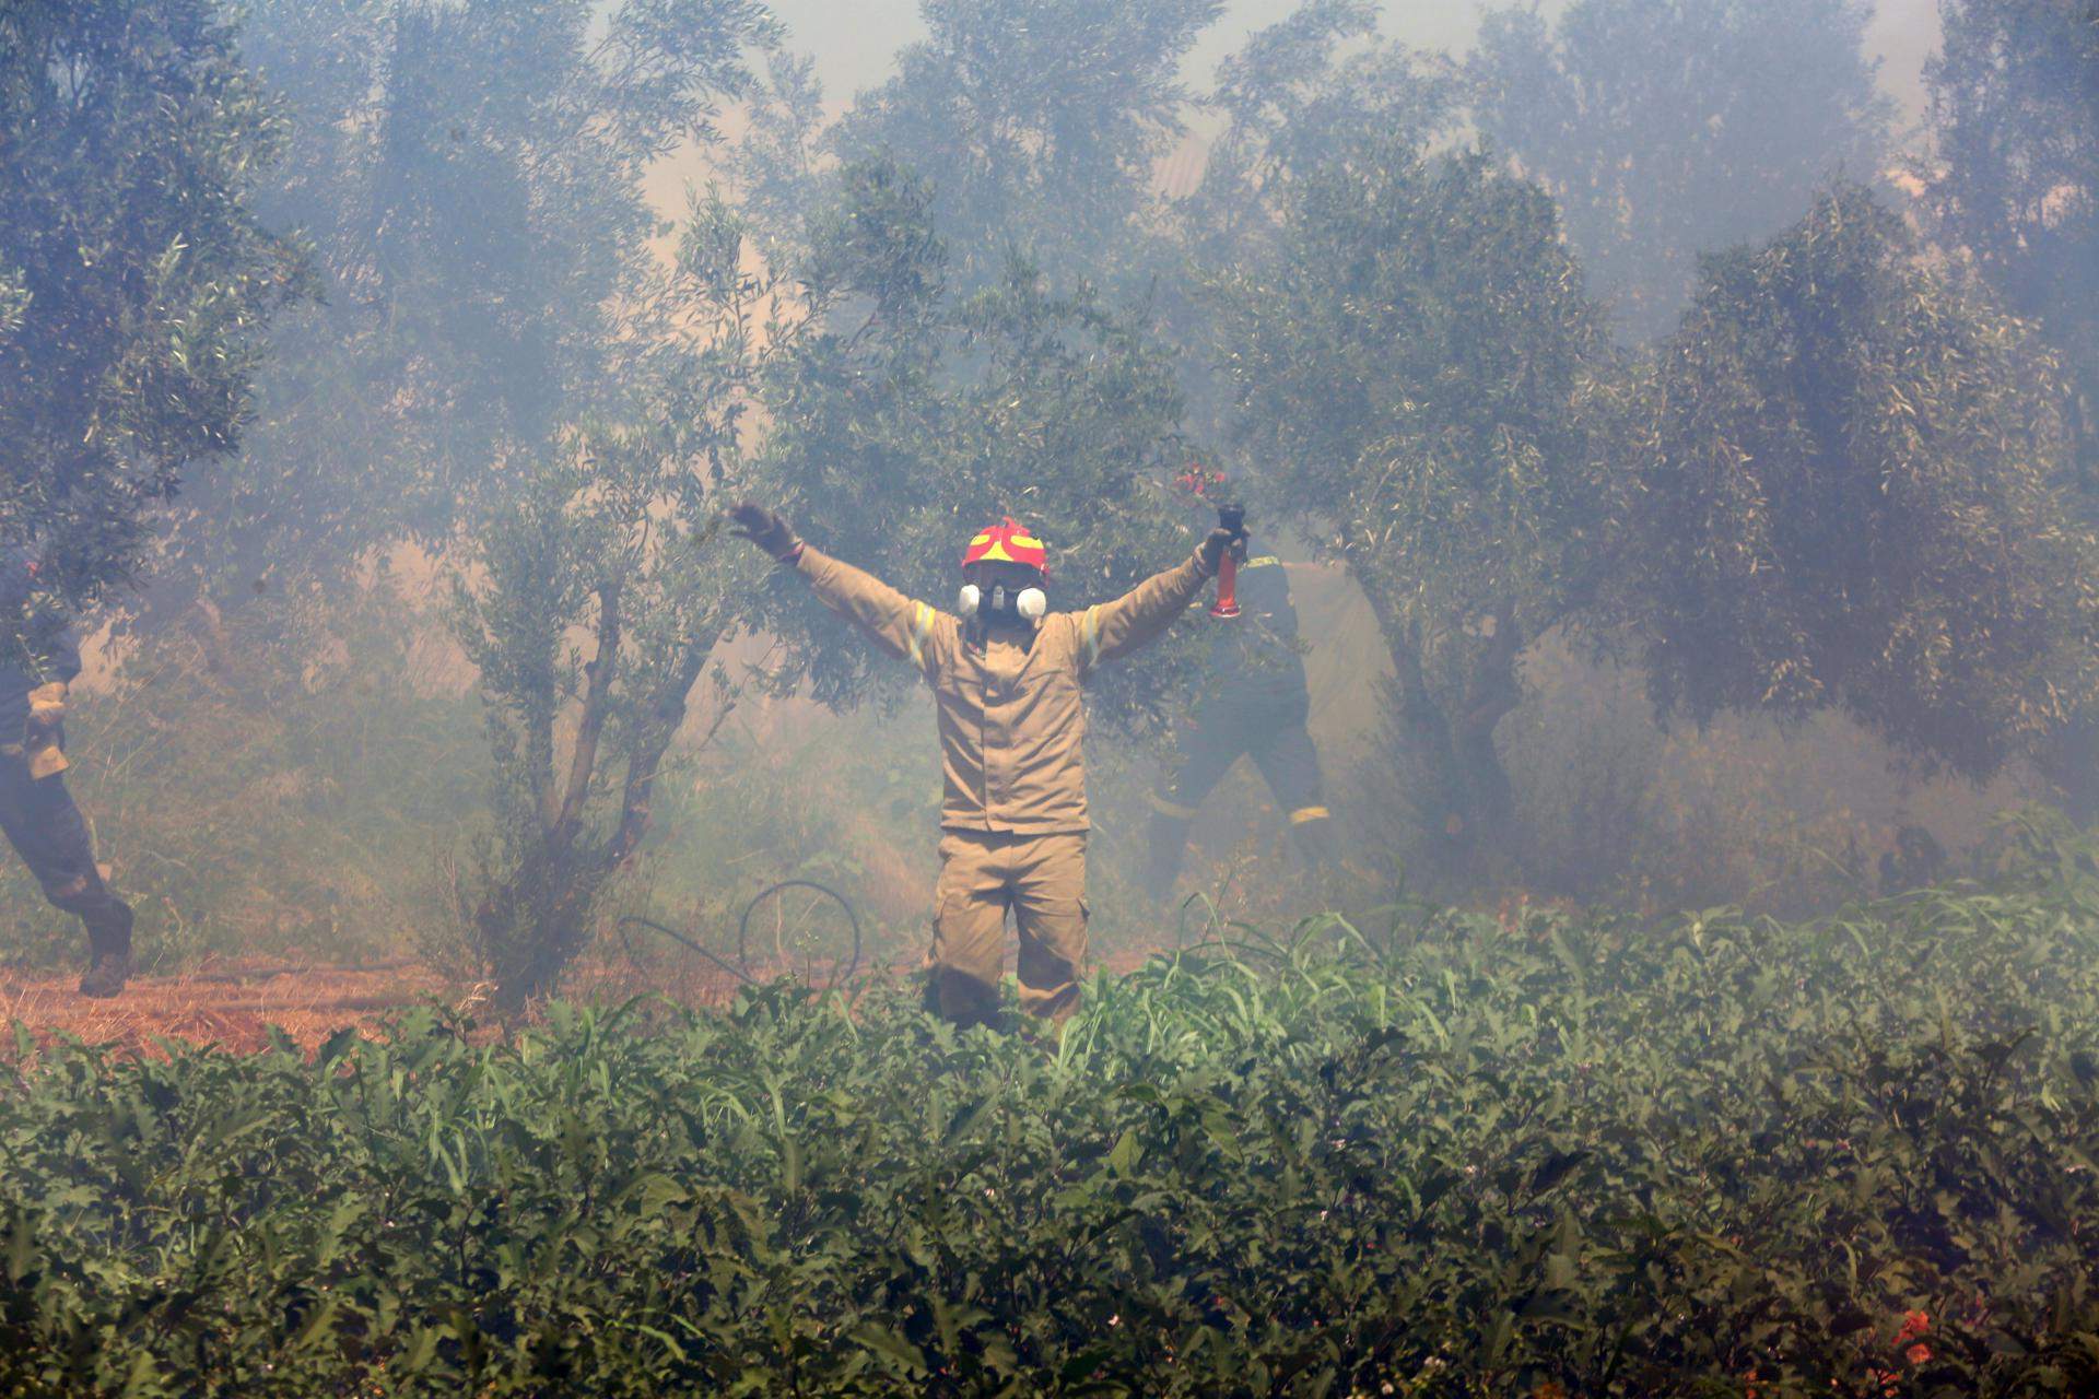
[[[1115,602],[1052,612],[1029,636],[987,633],[814,547],[804,545],[793,568],[932,686],[947,782],[940,826],[1020,835],[1085,831],[1079,684],[1165,631],[1209,577],[1190,556]]]

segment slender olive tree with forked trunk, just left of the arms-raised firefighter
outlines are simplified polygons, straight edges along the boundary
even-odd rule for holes
[[[504,464],[453,587],[495,749],[493,835],[460,887],[468,942],[516,1007],[552,990],[634,860],[695,686],[756,568],[716,529],[764,359],[791,327],[745,235],[701,203],[630,323],[623,394]],[[716,675],[714,724],[735,703]]]

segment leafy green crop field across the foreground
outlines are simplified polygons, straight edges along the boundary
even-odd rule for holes
[[[2091,1395],[2099,870],[1102,980],[19,1045],[17,1395]]]

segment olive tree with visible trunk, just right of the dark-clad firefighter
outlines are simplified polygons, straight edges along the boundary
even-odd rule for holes
[[[1599,317],[1553,201],[1484,153],[1373,143],[1295,178],[1220,279],[1238,451],[1354,577],[1396,671],[1402,797],[1446,866],[1505,847],[1494,726],[1612,520]]]

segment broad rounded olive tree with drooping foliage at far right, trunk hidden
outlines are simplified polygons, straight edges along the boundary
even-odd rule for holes
[[[2099,686],[2055,365],[1839,185],[1706,258],[1618,577],[1665,713],[1841,709],[1984,778]]]

